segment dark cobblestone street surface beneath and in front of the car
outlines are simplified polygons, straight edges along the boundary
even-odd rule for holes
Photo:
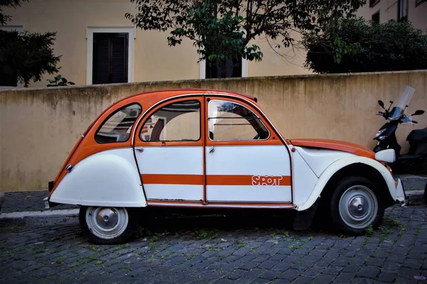
[[[148,218],[138,239],[110,246],[78,224],[0,227],[1,283],[427,283],[414,278],[427,276],[425,205],[391,207],[358,237],[258,212]]]

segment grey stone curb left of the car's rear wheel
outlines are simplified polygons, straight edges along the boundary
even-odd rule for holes
[[[0,224],[16,226],[41,226],[78,223],[79,209],[62,209],[36,212],[13,212],[0,214]]]

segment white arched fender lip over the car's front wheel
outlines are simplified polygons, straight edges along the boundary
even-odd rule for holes
[[[389,170],[387,170],[384,165],[379,163],[377,160],[373,160],[371,158],[366,158],[362,156],[351,156],[344,157],[339,160],[336,160],[334,163],[331,163],[320,175],[319,180],[317,180],[314,189],[312,190],[311,195],[305,200],[305,202],[301,202],[301,204],[295,204],[298,211],[306,210],[315,204],[317,198],[320,197],[322,191],[325,189],[327,182],[332,178],[332,176],[337,173],[338,170],[347,167],[348,165],[352,165],[354,163],[362,163],[365,165],[369,165],[372,170],[377,170],[381,177],[384,178],[384,182],[389,189],[389,193],[392,200],[404,202],[405,195],[404,190],[401,186],[401,182],[398,182],[396,186],[395,181]]]

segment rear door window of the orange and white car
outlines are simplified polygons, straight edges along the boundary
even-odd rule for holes
[[[142,141],[199,141],[201,103],[198,100],[174,102],[157,110],[144,122]]]

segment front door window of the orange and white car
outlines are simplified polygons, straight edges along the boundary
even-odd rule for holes
[[[267,139],[268,129],[253,111],[234,102],[211,100],[209,107],[209,138],[221,140]]]

